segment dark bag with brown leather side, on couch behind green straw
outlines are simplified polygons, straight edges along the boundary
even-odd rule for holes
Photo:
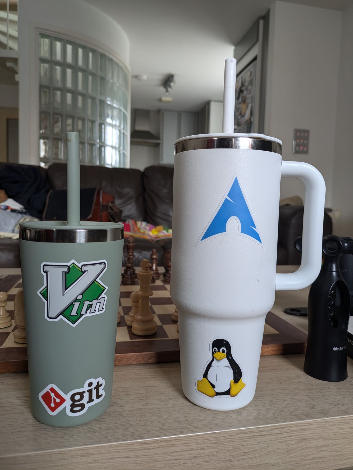
[[[115,222],[120,219],[121,211],[114,204],[114,197],[103,193],[101,188],[80,190],[81,220],[91,222]],[[43,220],[67,220],[67,191],[52,189],[47,195]]]

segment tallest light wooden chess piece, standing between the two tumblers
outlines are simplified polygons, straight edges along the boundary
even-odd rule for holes
[[[157,323],[154,321],[154,315],[149,308],[149,297],[153,295],[150,290],[151,279],[153,276],[152,271],[149,270],[149,260],[142,259],[141,271],[137,273],[140,282],[140,290],[138,291],[140,297],[140,308],[135,315],[132,324],[132,332],[135,335],[147,336],[153,335],[157,331]]]

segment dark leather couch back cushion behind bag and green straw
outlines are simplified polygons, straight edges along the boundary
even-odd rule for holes
[[[52,189],[67,189],[66,164],[53,163],[47,170]],[[81,188],[102,188],[114,197],[122,219],[145,220],[142,172],[132,168],[80,165]]]

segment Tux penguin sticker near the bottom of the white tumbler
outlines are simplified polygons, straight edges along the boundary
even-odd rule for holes
[[[242,369],[233,358],[229,341],[213,339],[211,360],[205,365],[201,380],[196,379],[196,390],[210,398],[236,397],[246,385],[242,377]]]

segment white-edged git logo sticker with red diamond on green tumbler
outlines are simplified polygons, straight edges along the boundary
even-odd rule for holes
[[[79,416],[104,398],[104,384],[102,377],[88,379],[83,388],[71,390],[68,394],[63,393],[56,385],[49,384],[39,392],[38,398],[49,415],[55,416],[66,408],[68,416]]]

